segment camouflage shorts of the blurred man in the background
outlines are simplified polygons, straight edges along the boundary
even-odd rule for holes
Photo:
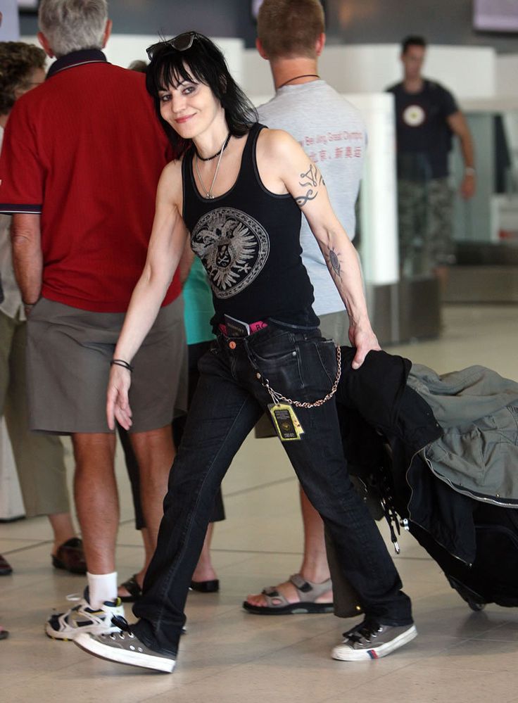
[[[406,275],[430,274],[455,263],[453,189],[449,179],[398,180],[400,269]]]

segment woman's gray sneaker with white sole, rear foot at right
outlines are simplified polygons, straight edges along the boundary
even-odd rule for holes
[[[365,619],[343,633],[341,645],[334,647],[331,657],[341,661],[361,661],[386,657],[417,635],[415,625],[379,625]]]

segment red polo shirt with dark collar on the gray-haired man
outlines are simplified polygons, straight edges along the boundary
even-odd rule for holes
[[[101,51],[58,59],[44,84],[15,103],[0,211],[41,215],[44,298],[125,312],[171,158],[144,75],[107,63]],[[179,291],[176,275],[163,304]]]

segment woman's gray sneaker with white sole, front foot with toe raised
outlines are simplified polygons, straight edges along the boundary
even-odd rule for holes
[[[79,633],[74,638],[74,644],[94,657],[118,661],[119,664],[141,666],[143,669],[154,669],[171,673],[175,668],[176,658],[172,654],[160,654],[150,650],[132,632],[131,626],[124,618],[113,618],[116,632],[102,635]]]

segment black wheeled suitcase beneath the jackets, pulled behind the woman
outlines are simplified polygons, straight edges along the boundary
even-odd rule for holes
[[[364,500],[381,503],[393,542],[404,526],[473,610],[517,607],[518,509],[460,495],[419,457],[408,471],[411,459],[398,441],[388,444],[357,414],[339,410],[350,473]],[[411,516],[421,498],[429,521],[419,526]]]

